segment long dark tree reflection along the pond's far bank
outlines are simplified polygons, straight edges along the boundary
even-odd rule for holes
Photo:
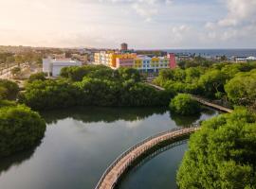
[[[73,118],[84,123],[106,122],[111,123],[118,120],[136,121],[144,119],[153,114],[163,114],[165,108],[99,108],[99,107],[78,107],[68,110],[42,112],[41,114],[47,124],[56,123],[64,118]]]

